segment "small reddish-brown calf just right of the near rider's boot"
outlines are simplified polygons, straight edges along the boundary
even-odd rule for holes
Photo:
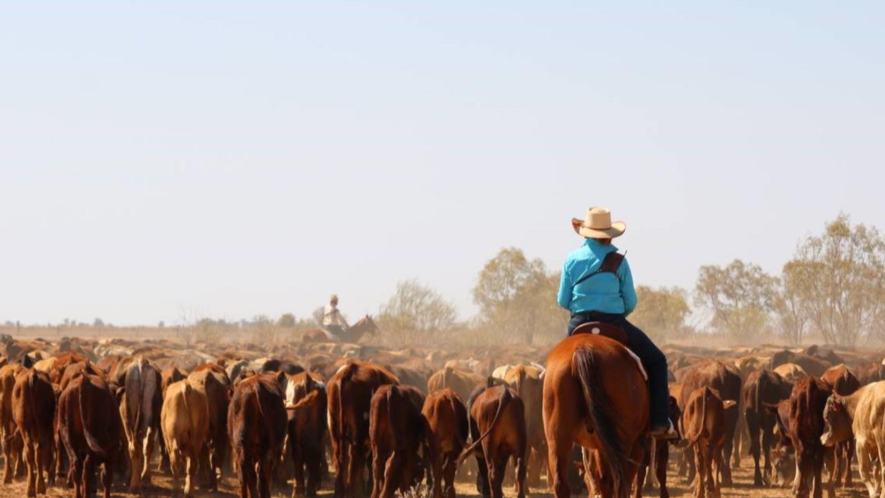
[[[704,492],[720,496],[720,467],[726,466],[722,448],[727,438],[725,409],[735,401],[722,401],[709,387],[698,387],[689,395],[682,412],[682,430],[695,454],[695,498]]]

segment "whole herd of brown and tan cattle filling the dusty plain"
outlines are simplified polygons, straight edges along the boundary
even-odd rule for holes
[[[696,497],[719,496],[749,454],[756,486],[834,496],[835,486],[850,486],[856,459],[870,497],[885,498],[881,354],[665,351],[681,440],[647,441],[635,497],[650,468],[667,498],[673,452]],[[173,492],[186,496],[235,475],[243,498],[267,498],[289,478],[293,496],[315,496],[333,473],[335,496],[348,498],[392,497],[425,476],[434,498],[454,498],[456,479],[500,498],[505,475],[523,498],[553,479],[540,346],[465,352],[304,340],[269,351],[5,336],[0,353],[4,483],[24,477],[28,496],[45,494],[56,476],[78,498],[96,482],[108,498],[115,475],[137,494],[152,471],[171,473]],[[570,486],[598,493],[586,452],[574,448],[572,460]]]

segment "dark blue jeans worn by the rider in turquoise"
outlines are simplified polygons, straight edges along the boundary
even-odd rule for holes
[[[621,315],[607,315],[604,313],[578,313],[572,315],[568,322],[568,335],[572,335],[574,329],[581,323],[604,322],[619,325],[627,333],[627,347],[633,351],[643,362],[645,371],[649,374],[649,404],[651,427],[666,425],[670,418],[670,391],[666,385],[666,356],[651,342],[645,332],[639,330],[633,323],[627,322],[627,318]],[[675,424],[676,421],[673,421]]]

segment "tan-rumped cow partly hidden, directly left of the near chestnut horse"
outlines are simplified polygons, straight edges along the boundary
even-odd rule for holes
[[[543,420],[543,370],[519,365],[508,370],[504,380],[516,391],[526,409],[526,435],[528,437],[528,486],[539,486],[541,469],[547,464],[547,439],[544,437]],[[552,479],[550,479],[552,480]]]

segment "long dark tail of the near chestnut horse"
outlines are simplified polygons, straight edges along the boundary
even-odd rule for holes
[[[602,463],[605,473],[612,477],[614,496],[626,498],[630,490],[630,482],[627,481],[627,455],[612,424],[612,416],[605,409],[609,400],[599,382],[600,368],[596,363],[593,349],[590,347],[575,349],[572,355],[572,368],[581,383],[590,424],[602,444]]]

